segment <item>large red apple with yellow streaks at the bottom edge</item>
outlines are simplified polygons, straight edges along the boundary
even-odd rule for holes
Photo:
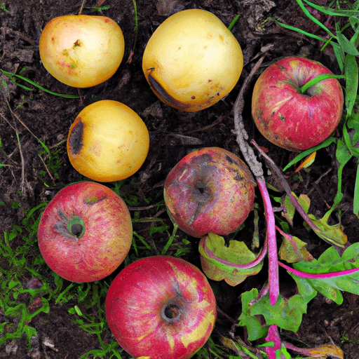
[[[184,259],[167,256],[126,266],[106,298],[110,330],[134,358],[190,358],[210,337],[216,308],[204,274]]]

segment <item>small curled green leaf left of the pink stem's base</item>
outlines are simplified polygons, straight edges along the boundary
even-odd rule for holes
[[[250,316],[250,302],[258,297],[258,290],[253,288],[248,292],[244,292],[241,295],[242,300],[242,313],[238,318],[239,325],[247,328],[248,340],[254,341],[264,337],[268,332],[268,327],[263,327],[259,321],[259,318]]]

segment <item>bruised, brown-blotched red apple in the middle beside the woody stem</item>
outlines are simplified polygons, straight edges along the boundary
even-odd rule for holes
[[[241,158],[226,149],[205,147],[172,168],[164,198],[172,222],[190,236],[225,236],[252,210],[255,181]]]

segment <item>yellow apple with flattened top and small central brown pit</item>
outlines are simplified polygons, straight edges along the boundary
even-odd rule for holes
[[[107,81],[121,64],[121,28],[106,16],[64,15],[43,28],[39,52],[43,66],[58,81],[87,88]]]

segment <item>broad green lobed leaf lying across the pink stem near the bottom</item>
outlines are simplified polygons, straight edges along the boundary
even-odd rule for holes
[[[277,302],[271,305],[269,294],[266,294],[252,305],[250,315],[257,316],[262,314],[267,324],[278,325],[284,330],[297,332],[302,323],[302,316],[306,313],[307,304],[308,302],[302,295],[295,294],[289,299],[279,296]]]

